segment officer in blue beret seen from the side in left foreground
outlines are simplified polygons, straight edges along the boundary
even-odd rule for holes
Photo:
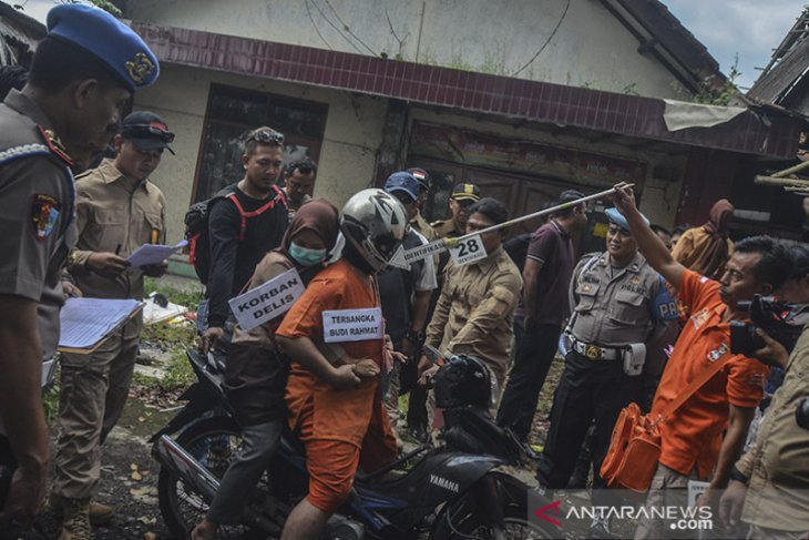
[[[45,491],[48,434],[40,385],[47,378],[43,359],[50,359],[59,339],[64,298],[60,268],[75,242],[71,169],[86,167],[106,147],[132,93],[152,84],[160,72],[143,40],[101,9],[53,8],[48,31],[28,83],[0,104],[0,477],[6,476],[0,478],[4,499],[0,527],[4,530],[7,522],[27,527]],[[86,506],[65,508],[65,518],[79,518],[60,538],[90,538],[86,510]]]

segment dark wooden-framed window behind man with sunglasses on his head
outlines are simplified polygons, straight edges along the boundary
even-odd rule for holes
[[[242,180],[246,134],[262,125],[284,133],[284,161],[319,161],[328,105],[212,84],[205,112],[193,201],[213,196]]]

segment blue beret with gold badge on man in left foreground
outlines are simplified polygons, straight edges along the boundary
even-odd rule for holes
[[[81,3],[57,6],[48,12],[48,35],[96,57],[130,91],[149,86],[160,74],[157,58],[141,37],[103,9]]]

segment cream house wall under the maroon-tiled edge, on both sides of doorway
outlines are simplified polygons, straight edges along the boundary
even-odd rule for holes
[[[378,149],[382,141],[387,100],[348,92],[304,86],[293,83],[252,79],[242,75],[164,64],[157,84],[137,92],[135,110],[151,110],[161,114],[176,133],[172,144],[177,155],[164,154],[153,180],[163,190],[168,202],[168,240],[177,241],[184,232],[183,217],[192,202],[194,176],[202,144],[205,110],[212,83],[227,84],[260,92],[286,95],[328,104],[328,116],[320,151],[315,195],[322,196],[338,207],[357,191],[372,185],[377,172]],[[413,108],[413,120],[470,129],[504,139],[535,141],[544,144],[585,150],[628,157],[647,163],[642,211],[655,223],[674,223],[679,201],[686,155],[633,151],[616,144],[590,143],[566,135],[492,121],[481,121],[452,113]],[[402,156],[406,152],[402,153]],[[659,180],[658,167],[673,170],[674,177]],[[576,182],[576,179],[567,179]],[[582,185],[588,192],[598,186]],[[603,187],[603,186],[602,186]]]

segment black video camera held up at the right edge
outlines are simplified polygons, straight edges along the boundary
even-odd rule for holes
[[[791,320],[795,304],[776,300],[772,296],[756,295],[752,302],[739,302],[739,309],[750,313],[751,323],[730,322],[730,351],[735,355],[752,356],[752,353],[765,346],[761,336],[756,334],[761,328],[776,342],[784,345],[788,353],[803,330],[801,324]]]

